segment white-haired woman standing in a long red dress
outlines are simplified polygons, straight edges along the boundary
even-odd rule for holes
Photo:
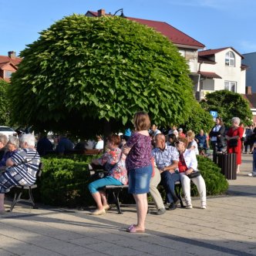
[[[240,119],[233,117],[231,120],[232,126],[227,131],[227,153],[237,154],[237,173],[240,172],[239,167],[241,165],[241,138],[244,134],[244,130],[239,126]]]

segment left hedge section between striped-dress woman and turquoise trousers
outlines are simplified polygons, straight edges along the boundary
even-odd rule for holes
[[[42,159],[43,171],[38,184],[42,203],[67,207],[93,204],[88,190],[89,158],[85,157],[84,161],[66,157]]]

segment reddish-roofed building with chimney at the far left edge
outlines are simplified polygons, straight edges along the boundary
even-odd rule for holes
[[[0,56],[0,79],[9,82],[21,61],[22,58],[16,57],[15,52],[8,52],[8,56]]]

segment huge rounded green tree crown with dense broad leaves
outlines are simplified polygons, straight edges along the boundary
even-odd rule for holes
[[[183,123],[193,102],[189,69],[163,35],[120,17],[71,15],[21,52],[12,76],[13,118],[76,133],[130,126],[138,110],[159,125]]]

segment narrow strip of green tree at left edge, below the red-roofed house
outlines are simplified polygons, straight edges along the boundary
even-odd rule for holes
[[[7,96],[7,89],[10,85],[0,80],[0,125],[10,125],[10,101]]]

